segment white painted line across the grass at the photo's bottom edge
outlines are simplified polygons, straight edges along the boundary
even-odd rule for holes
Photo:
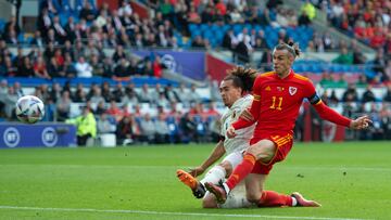
[[[42,208],[0,206],[0,209],[34,210],[34,211],[72,211],[72,212],[109,212],[109,213],[140,213],[140,215],[164,215],[164,216],[201,216],[201,217],[227,217],[227,218],[267,218],[267,219],[308,219],[308,220],[364,220],[350,218],[329,217],[294,217],[294,216],[266,216],[266,215],[242,215],[242,213],[198,213],[198,212],[169,212],[169,211],[144,211],[144,210],[121,210],[121,209],[94,209],[94,208]]]

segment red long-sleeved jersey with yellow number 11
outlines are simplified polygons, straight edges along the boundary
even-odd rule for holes
[[[239,118],[232,126],[235,129],[240,129],[256,121],[254,137],[265,133],[293,133],[299,108],[304,99],[308,99],[324,119],[345,127],[351,121],[323,104],[312,81],[294,74],[292,69],[283,79],[279,78],[275,72],[257,76],[253,86],[253,95],[254,101],[250,113],[254,120],[247,121]]]

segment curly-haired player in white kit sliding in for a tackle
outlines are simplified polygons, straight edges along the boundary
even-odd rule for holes
[[[224,204],[217,204],[213,194],[205,193],[204,183],[213,182],[217,184],[223,181],[226,177],[229,177],[235,167],[243,159],[242,152],[250,145],[254,126],[240,130],[240,133],[234,139],[228,139],[226,131],[231,122],[236,121],[244,109],[251,106],[253,101],[251,91],[256,74],[256,70],[243,67],[235,67],[228,72],[219,86],[223,102],[228,107],[228,111],[220,119],[220,141],[201,166],[190,169],[189,172],[181,169],[177,170],[178,179],[191,189],[197,198],[203,198],[202,206],[204,208],[242,208],[251,206],[251,203],[245,198],[243,183],[229,194],[227,202]],[[222,163],[212,167],[202,180],[198,181],[195,179],[224,155],[227,156]]]

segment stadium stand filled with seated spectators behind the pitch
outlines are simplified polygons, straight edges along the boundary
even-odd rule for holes
[[[135,4],[148,9],[149,17]],[[46,121],[75,117],[81,106],[90,106],[98,121],[115,128],[103,130],[102,125],[101,134],[114,133],[118,144],[212,141],[224,106],[205,86],[211,79],[190,85],[165,78],[171,66],[159,54],[138,55],[137,50],[228,51],[232,59],[224,60],[232,65],[268,69],[269,50],[293,40],[317,57],[297,61],[294,70],[317,82],[336,109],[379,116],[376,132],[380,129],[381,139],[390,139],[389,4],[320,0],[292,9],[273,0],[124,0],[112,8],[93,0],[40,0],[35,33],[25,33],[14,16],[0,18],[1,118],[15,120],[12,107],[17,96],[33,93],[46,103]],[[317,10],[326,11],[328,23],[354,40],[316,33],[312,21]],[[376,54],[362,53],[355,40],[377,49]],[[336,55],[325,59],[328,51]],[[112,100],[115,107],[109,104]],[[167,132],[146,137],[141,125],[147,114],[151,125],[164,118]]]

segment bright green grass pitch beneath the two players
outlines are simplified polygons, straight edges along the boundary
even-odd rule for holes
[[[212,148],[0,150],[0,219],[391,219],[391,142],[297,143],[266,189],[321,208],[202,209],[175,171]]]

